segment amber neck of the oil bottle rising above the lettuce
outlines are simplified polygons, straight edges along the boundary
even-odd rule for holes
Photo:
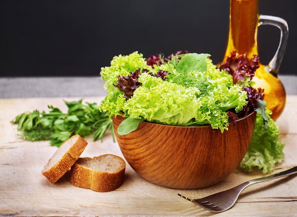
[[[230,0],[229,39],[224,59],[236,50],[249,58],[258,55],[258,0]]]

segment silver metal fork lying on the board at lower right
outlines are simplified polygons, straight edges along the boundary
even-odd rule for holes
[[[283,171],[283,172],[275,173],[275,174],[268,175],[268,176],[262,177],[262,178],[253,179],[253,180],[244,182],[234,188],[228,189],[226,191],[212,194],[207,197],[203,197],[203,198],[195,199],[195,200],[192,200],[192,199],[185,197],[178,193],[177,193],[177,195],[185,198],[186,200],[191,201],[192,203],[195,203],[196,205],[198,205],[206,210],[209,210],[209,211],[215,212],[215,213],[221,213],[221,212],[224,212],[224,211],[230,209],[234,205],[239,194],[247,186],[250,186],[252,184],[256,184],[259,182],[270,181],[272,179],[280,178],[280,177],[287,176],[287,175],[292,175],[295,173],[297,173],[297,166],[293,167],[289,170]]]

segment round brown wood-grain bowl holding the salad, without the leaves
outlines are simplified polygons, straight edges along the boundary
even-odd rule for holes
[[[178,127],[140,122],[137,130],[120,136],[124,118],[113,117],[120,149],[129,165],[144,179],[178,189],[203,188],[230,175],[247,152],[256,112],[236,121],[228,131],[210,126]]]

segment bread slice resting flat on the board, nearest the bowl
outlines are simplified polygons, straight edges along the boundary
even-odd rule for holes
[[[110,192],[123,183],[125,168],[125,161],[112,154],[78,158],[71,167],[70,181],[77,187]]]

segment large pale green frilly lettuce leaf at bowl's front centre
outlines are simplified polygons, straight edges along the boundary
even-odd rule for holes
[[[197,116],[201,107],[196,97],[200,94],[197,88],[184,88],[147,73],[139,76],[139,82],[142,86],[135,90],[133,97],[124,105],[129,117],[183,126]]]

